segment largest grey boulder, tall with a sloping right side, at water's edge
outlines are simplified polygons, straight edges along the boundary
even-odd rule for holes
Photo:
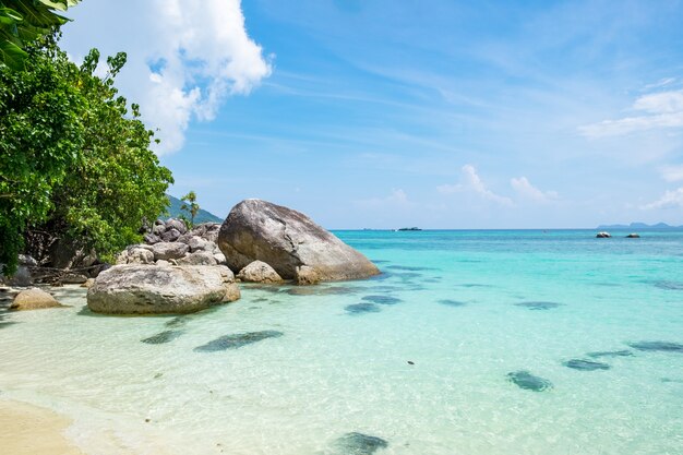
[[[380,273],[364,255],[308,216],[257,199],[232,207],[220,227],[218,247],[235,272],[257,260],[285,279],[297,279],[297,270],[304,266],[315,282],[367,278]]]

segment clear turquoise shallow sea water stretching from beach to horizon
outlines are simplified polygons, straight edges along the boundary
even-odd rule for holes
[[[683,352],[628,346],[683,344],[683,232],[336,234],[385,275],[244,287],[181,319],[98,316],[58,290],[73,308],[1,321],[0,398],[72,416],[95,453],[343,454],[360,432],[376,454],[683,454]]]

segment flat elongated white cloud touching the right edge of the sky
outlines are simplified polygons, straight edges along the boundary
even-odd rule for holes
[[[683,128],[683,89],[643,95],[635,100],[633,109],[640,115],[583,125],[578,132],[586,137],[598,139]]]

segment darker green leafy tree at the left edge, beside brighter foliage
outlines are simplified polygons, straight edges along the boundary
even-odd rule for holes
[[[0,263],[8,274],[23,232],[47,218],[52,188],[81,160],[85,135],[79,68],[52,37],[28,53],[27,71],[0,65]]]

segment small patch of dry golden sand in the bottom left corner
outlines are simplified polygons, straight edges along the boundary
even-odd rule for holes
[[[51,409],[0,400],[0,445],[13,455],[86,455],[67,439],[73,421]]]

